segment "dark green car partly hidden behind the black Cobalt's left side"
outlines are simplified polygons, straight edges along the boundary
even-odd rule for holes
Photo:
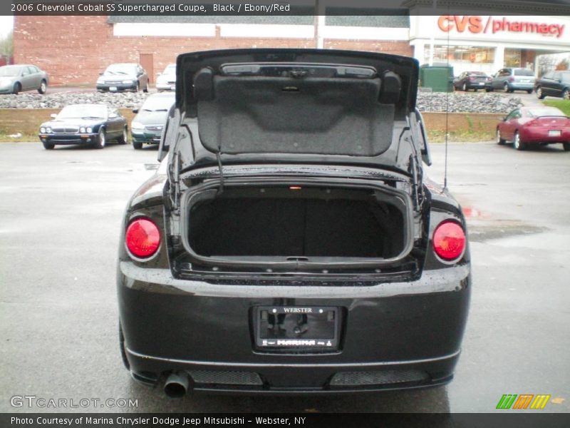
[[[133,148],[142,148],[142,144],[160,143],[162,128],[174,101],[174,92],[154,93],[145,100],[141,108],[133,108],[133,113],[137,113],[130,123]]]

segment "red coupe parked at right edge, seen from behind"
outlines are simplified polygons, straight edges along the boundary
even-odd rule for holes
[[[497,143],[512,141],[517,150],[562,143],[570,151],[570,118],[555,107],[522,107],[497,125]]]

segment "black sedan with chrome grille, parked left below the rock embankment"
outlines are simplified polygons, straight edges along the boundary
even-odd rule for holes
[[[104,148],[108,140],[127,142],[127,121],[116,108],[105,104],[73,104],[51,117],[41,124],[38,135],[46,149],[69,144]]]

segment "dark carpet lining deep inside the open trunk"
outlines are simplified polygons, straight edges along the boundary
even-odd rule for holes
[[[388,258],[403,247],[403,218],[366,200],[219,198],[192,208],[199,255]]]

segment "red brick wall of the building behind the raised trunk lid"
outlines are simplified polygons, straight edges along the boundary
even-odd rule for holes
[[[167,25],[167,24],[165,24]],[[15,16],[14,62],[33,63],[46,70],[51,84],[95,84],[99,72],[115,62],[139,62],[152,54],[160,73],[179,54],[231,48],[314,48],[315,39],[113,36],[106,16]],[[378,51],[412,56],[407,41],[324,41],[326,49]]]

